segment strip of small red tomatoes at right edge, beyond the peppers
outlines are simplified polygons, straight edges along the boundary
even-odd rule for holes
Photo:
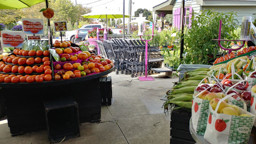
[[[229,54],[225,54],[224,56],[216,58],[215,61],[213,62],[213,65],[216,64],[216,63],[234,58],[238,55],[253,51],[253,50],[256,50],[255,46],[244,47],[241,50],[237,51],[236,53],[235,52],[230,52]]]

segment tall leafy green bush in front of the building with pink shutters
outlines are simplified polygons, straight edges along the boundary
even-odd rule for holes
[[[211,64],[212,60],[208,55],[216,58],[221,53],[217,41],[212,39],[218,38],[219,20],[222,20],[221,39],[237,39],[235,30],[239,27],[238,22],[232,12],[215,12],[213,10],[203,10],[199,13],[193,13],[191,27],[184,36],[184,52],[182,63],[193,64]],[[228,48],[231,41],[221,41],[221,45]]]

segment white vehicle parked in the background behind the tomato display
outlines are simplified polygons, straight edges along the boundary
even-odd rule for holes
[[[84,24],[84,25],[82,25],[82,27],[80,27],[80,28],[77,28],[77,29],[75,29],[75,30],[71,30],[71,31],[66,31],[65,32],[65,40],[71,40],[72,42],[75,42],[75,33],[76,33],[76,31],[78,30],[78,29],[83,29],[83,30],[90,30],[90,29],[92,29],[93,27],[98,27],[98,28],[102,28],[103,27],[103,25],[102,24]],[[81,31],[82,32],[82,34],[85,34],[84,32],[85,31]],[[87,34],[87,32],[86,32],[86,34]],[[77,42],[77,41],[76,41]],[[78,41],[78,42],[80,42],[80,41]]]

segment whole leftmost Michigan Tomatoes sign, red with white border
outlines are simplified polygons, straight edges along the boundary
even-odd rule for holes
[[[25,35],[22,31],[1,31],[2,47],[22,47]]]

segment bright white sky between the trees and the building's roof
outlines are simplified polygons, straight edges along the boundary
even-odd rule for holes
[[[123,12],[123,0],[71,0],[73,3],[83,4],[87,7],[92,7],[92,12],[101,11],[102,13],[106,10]],[[152,11],[152,7],[158,5],[166,0],[132,0],[134,4],[131,4],[131,15],[134,15],[134,11],[138,8],[146,8]],[[128,14],[129,0],[124,0],[124,13]],[[85,14],[85,13],[84,13]]]

